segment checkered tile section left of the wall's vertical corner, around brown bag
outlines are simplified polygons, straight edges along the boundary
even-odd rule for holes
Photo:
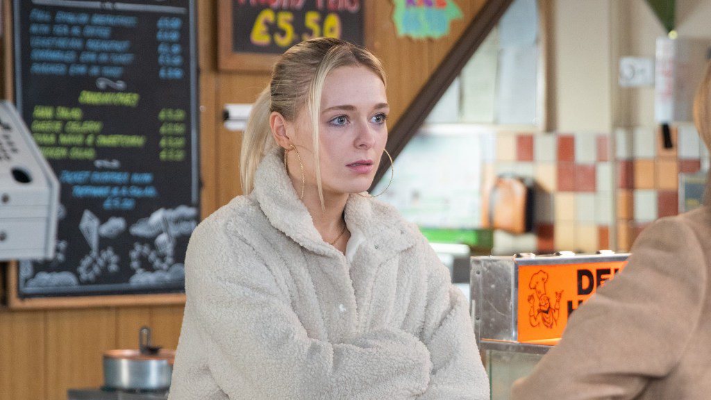
[[[486,177],[514,173],[536,182],[533,233],[494,233],[493,253],[594,252],[610,248],[613,205],[609,135],[498,133]],[[486,180],[486,179],[485,179]]]

